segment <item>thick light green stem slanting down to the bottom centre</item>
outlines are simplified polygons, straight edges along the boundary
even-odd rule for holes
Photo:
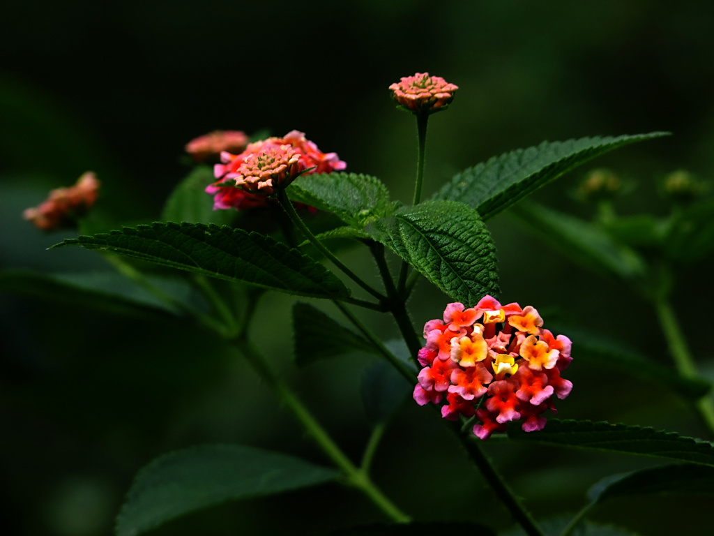
[[[313,437],[323,452],[325,452],[330,460],[344,473],[347,483],[361,490],[361,492],[391,520],[398,523],[411,521],[408,515],[399,510],[393,502],[383,495],[381,490],[374,485],[374,482],[372,482],[364,470],[358,469],[358,467],[353,465],[340,447],[333,442],[323,427],[321,427],[308,409],[302,404],[300,399],[296,397],[290,387],[283,382],[273,367],[271,367],[262,354],[258,352],[256,347],[254,347],[246,337],[241,337],[236,340],[236,344],[248,362],[256,369],[256,372],[260,374],[263,380],[278,394],[281,401],[301,422],[306,432]]]

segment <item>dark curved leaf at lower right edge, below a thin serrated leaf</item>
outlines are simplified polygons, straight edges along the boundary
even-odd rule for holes
[[[632,495],[714,495],[714,467],[672,464],[610,475],[588,490],[590,505]]]

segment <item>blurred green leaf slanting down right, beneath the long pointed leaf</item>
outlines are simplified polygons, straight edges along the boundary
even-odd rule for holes
[[[535,232],[555,249],[603,274],[623,279],[642,278],[645,261],[630,247],[617,242],[595,224],[529,201],[511,209],[528,231]]]

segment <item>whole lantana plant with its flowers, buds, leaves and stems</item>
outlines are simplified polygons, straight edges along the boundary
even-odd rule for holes
[[[255,445],[199,445],[168,453],[139,472],[119,512],[117,536],[139,535],[227,500],[325,482],[358,490],[381,512],[381,525],[345,533],[408,531],[418,535],[459,530],[492,535],[501,530],[503,523],[491,522],[491,512],[479,510],[483,501],[478,497],[473,499],[473,517],[456,522],[458,512],[448,508],[449,480],[473,475],[441,472],[439,465],[449,452],[425,452],[423,466],[415,467],[423,477],[424,505],[383,491],[381,479],[371,474],[371,460],[384,427],[400,418],[404,404],[453,435],[468,453],[464,462],[480,470],[517,530],[531,536],[600,534],[597,525],[585,518],[593,506],[610,497],[653,490],[678,492],[694,481],[700,487],[708,482],[712,489],[714,447],[710,442],[613,424],[605,421],[606,415],[597,422],[554,417],[556,400],[558,410],[568,415],[567,397],[579,387],[566,376],[580,362],[593,366],[599,359],[610,367],[610,374],[637,372],[645,377],[661,377],[664,366],[618,344],[608,346],[607,334],[584,331],[577,322],[558,324],[556,319],[551,324],[548,314],[540,312],[554,304],[521,306],[521,297],[499,286],[496,244],[487,226],[496,214],[511,209],[532,232],[540,232],[568,254],[620,277],[647,296],[675,360],[675,368],[664,373],[669,374],[668,384],[687,393],[693,415],[701,417],[706,433],[714,434],[714,410],[707,396],[710,385],[696,371],[678,324],[690,317],[677,314],[668,301],[677,269],[714,249],[708,219],[714,214],[711,199],[693,202],[700,194],[695,182],[682,173],[670,177],[663,190],[674,199],[675,210],[663,222],[645,224],[645,229],[639,220],[615,217],[610,200],[621,182],[611,172],[597,170],[584,182],[580,194],[580,199],[598,203],[594,222],[568,217],[531,200],[518,203],[590,159],[666,133],[543,142],[465,169],[422,199],[428,122],[436,112],[458,105],[458,100],[454,104],[457,90],[469,89],[428,73],[406,76],[387,86],[398,109],[416,118],[418,159],[411,204],[393,199],[377,177],[347,171],[348,164],[336,152],[321,152],[300,131],[259,139],[242,131],[214,131],[186,144],[195,167],[178,183],[159,221],[81,234],[54,246],[96,251],[144,292],[176,314],[193,319],[226,347],[238,349],[241,359],[273,389],[276,407],[283,405],[292,412],[323,460],[308,462],[296,453]],[[329,140],[320,144],[339,150]],[[98,185],[94,174],[88,174],[71,189],[55,190],[49,201],[29,209],[25,217],[41,229],[69,227],[91,208]],[[264,231],[246,230],[243,216],[258,212],[278,225]],[[209,223],[216,221],[216,214],[225,224]],[[688,248],[693,242],[698,244],[696,251]],[[645,248],[646,255],[640,252]],[[367,276],[361,273],[364,267],[350,266],[346,259],[353,257],[342,256],[348,249],[371,257],[375,273]],[[538,256],[526,257],[529,277],[537,282]],[[206,307],[197,307],[157,285],[155,274],[146,271],[152,264],[186,274],[186,284],[203,296]],[[374,284],[375,279],[380,284]],[[443,296],[430,304],[431,312],[423,318],[415,317],[408,307],[419,280]],[[226,292],[225,282],[236,292]],[[292,329],[253,314],[258,302],[271,292],[296,297]],[[316,300],[299,301],[304,297]],[[327,314],[317,300],[340,312],[342,321]],[[603,304],[603,312],[590,310],[583,317],[626,314],[631,321],[635,312],[627,309],[626,304]],[[362,310],[392,322],[401,346],[379,337]],[[288,341],[293,332],[298,364],[355,349],[362,356],[378,357],[381,367],[375,369],[376,379],[372,374],[363,390],[366,405],[381,397],[392,402],[386,409],[381,406],[381,420],[366,438],[361,462],[338,445],[286,381],[274,357],[251,338],[258,328],[261,337],[286,337]],[[587,390],[579,396],[592,399],[591,411],[599,415],[598,401],[607,396],[607,387]],[[607,450],[658,457],[676,465],[655,465],[610,477],[593,488],[583,510],[554,525],[538,513],[531,514],[501,477],[483,451],[483,445],[491,442]],[[399,457],[392,455],[392,463],[398,464]],[[518,462],[526,478],[535,475],[537,468],[535,457]],[[433,512],[424,517],[425,505],[438,503],[444,505],[442,522],[426,522],[433,521]]]

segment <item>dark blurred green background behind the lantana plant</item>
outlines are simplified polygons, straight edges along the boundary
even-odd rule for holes
[[[415,71],[460,88],[451,109],[430,122],[426,194],[464,167],[544,139],[666,130],[673,136],[593,163],[638,184],[618,202],[620,212],[665,214],[656,194],[664,174],[685,168],[706,179],[714,169],[713,22],[704,1],[14,2],[0,19],[0,266],[101,269],[90,252],[45,251],[71,233],[39,234],[21,210],[93,169],[103,182],[101,219],[151,222],[187,172],[183,144],[212,129],[305,131],[348,170],[381,177],[406,201],[415,127],[395,111],[387,87]],[[569,195],[584,172],[538,199],[588,217]],[[505,214],[490,227],[504,301],[554,307],[568,322],[667,362],[653,314],[622,284],[534,242]],[[362,254],[348,260],[360,263]],[[711,357],[707,264],[685,274],[675,300],[701,358]],[[275,339],[286,331],[289,304],[274,297],[256,312],[263,327],[254,338],[281,362],[289,337]],[[444,304],[423,284],[410,304],[415,324],[439,317]],[[8,292],[0,315],[4,533],[108,534],[136,470],[178,447],[242,442],[322,460],[253,372],[186,322]],[[391,332],[381,327],[385,337]],[[575,389],[558,404],[560,417],[703,435],[668,392],[579,369],[577,342],[574,355]],[[285,366],[355,458],[368,433],[356,388],[365,362],[353,355],[313,365],[309,380]],[[508,527],[508,514],[475,471],[463,470],[463,455],[431,417],[413,404],[401,412],[378,454],[377,482],[424,519]],[[599,477],[643,465],[585,451],[488,447],[538,516],[572,512]],[[307,505],[300,493],[226,505],[157,534],[289,533],[380,519],[338,487],[305,496]],[[668,534],[700,513],[698,501],[635,498],[595,517]]]

